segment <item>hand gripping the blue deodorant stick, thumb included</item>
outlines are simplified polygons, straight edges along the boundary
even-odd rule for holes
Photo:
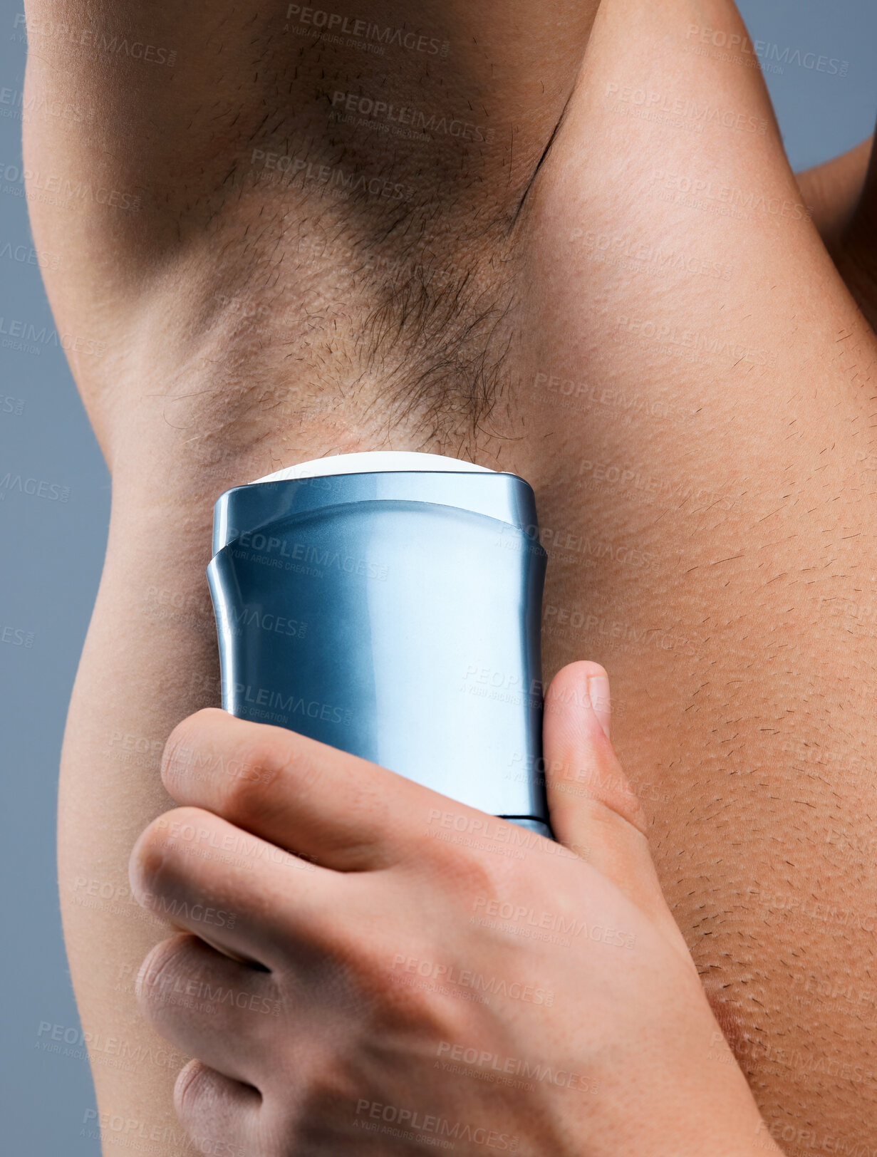
[[[197,1057],[176,1104],[205,1154],[779,1152],[661,894],[607,688],[574,663],[548,691],[559,843],[280,728],[176,728],[184,806],[131,879],[184,933],[138,992]]]

